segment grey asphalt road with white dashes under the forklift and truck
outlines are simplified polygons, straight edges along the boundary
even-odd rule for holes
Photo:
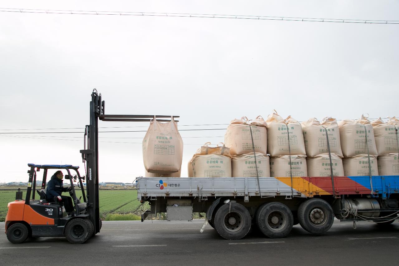
[[[0,234],[2,265],[398,265],[399,222],[379,228],[368,222],[334,221],[322,236],[294,226],[286,238],[251,231],[225,240],[203,220],[103,222],[85,244],[37,238],[11,244]],[[4,232],[4,222],[0,223]]]

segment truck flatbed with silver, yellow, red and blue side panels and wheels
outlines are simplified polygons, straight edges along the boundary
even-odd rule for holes
[[[243,238],[251,226],[280,238],[292,225],[313,234],[326,232],[334,216],[341,222],[367,220],[380,225],[399,219],[399,176],[356,177],[138,177],[142,214],[166,212],[167,220],[192,220],[205,212],[227,239]]]

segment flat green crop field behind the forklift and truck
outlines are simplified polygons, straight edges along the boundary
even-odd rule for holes
[[[81,190],[76,187],[76,195],[79,198],[82,195]],[[4,222],[7,214],[8,202],[15,200],[16,190],[0,191],[0,222]],[[137,200],[137,191],[128,190],[100,190],[100,217],[103,220],[140,220],[141,204]],[[69,196],[69,193],[63,193]],[[23,198],[26,191],[23,191]],[[31,197],[32,198],[32,197]],[[36,199],[39,199],[36,193]],[[148,206],[146,206],[148,208]]]

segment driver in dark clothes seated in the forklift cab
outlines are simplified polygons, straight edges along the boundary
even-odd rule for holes
[[[47,183],[47,190],[46,190],[46,196],[47,196],[47,201],[48,202],[63,202],[65,211],[68,213],[68,215],[73,215],[73,204],[72,204],[72,199],[71,197],[68,196],[61,196],[62,192],[65,191],[71,191],[71,187],[64,188],[62,186],[62,178],[64,174],[61,171],[57,171],[54,173],[54,175],[51,177],[50,181]]]

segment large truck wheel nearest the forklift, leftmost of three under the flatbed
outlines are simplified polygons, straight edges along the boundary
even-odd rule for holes
[[[235,202],[222,205],[212,220],[217,233],[228,240],[243,238],[251,228],[251,214],[247,208]]]

